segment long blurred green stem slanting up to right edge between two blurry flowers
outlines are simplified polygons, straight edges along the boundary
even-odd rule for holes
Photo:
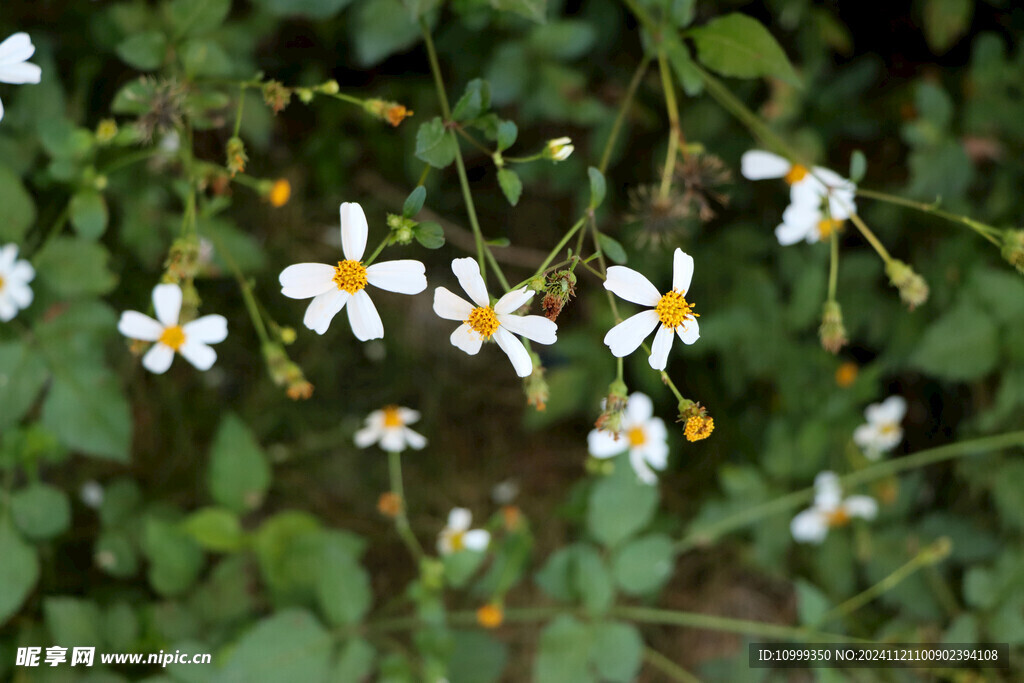
[[[927,467],[928,465],[934,465],[955,458],[980,455],[1014,445],[1024,445],[1024,431],[1007,432],[992,436],[982,436],[967,441],[958,441],[956,443],[947,443],[935,449],[921,451],[905,458],[887,460],[857,472],[841,476],[840,484],[844,488],[852,488],[919,467]],[[767,503],[745,508],[725,519],[687,532],[676,545],[676,550],[682,553],[698,546],[707,545],[726,533],[743,528],[765,517],[780,514],[809,503],[813,498],[814,487],[809,486],[768,501]]]

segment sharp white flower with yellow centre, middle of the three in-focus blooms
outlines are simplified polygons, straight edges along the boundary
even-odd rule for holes
[[[554,344],[558,333],[558,326],[543,315],[514,314],[534,298],[536,292],[528,287],[512,290],[492,306],[475,259],[455,259],[452,271],[473,302],[443,287],[434,290],[434,312],[446,321],[462,322],[452,333],[452,345],[476,355],[483,342],[494,337],[512,361],[516,375],[528,377],[534,372],[534,360],[516,335],[538,344]]]

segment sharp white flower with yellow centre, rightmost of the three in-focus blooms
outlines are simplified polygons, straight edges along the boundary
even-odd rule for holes
[[[627,301],[652,306],[623,321],[604,335],[604,343],[611,354],[621,358],[637,350],[658,323],[662,327],[654,335],[650,350],[650,367],[654,370],[665,370],[669,362],[673,333],[678,334],[684,344],[695,342],[700,336],[698,313],[693,312],[693,304],[684,296],[692,278],[693,257],[682,249],[676,249],[673,257],[672,291],[666,294],[660,294],[649,280],[633,268],[609,267],[604,289]]]

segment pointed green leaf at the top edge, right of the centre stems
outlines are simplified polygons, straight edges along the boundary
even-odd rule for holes
[[[768,30],[756,18],[731,13],[690,29],[700,61],[722,76],[767,76],[800,87],[800,79]]]

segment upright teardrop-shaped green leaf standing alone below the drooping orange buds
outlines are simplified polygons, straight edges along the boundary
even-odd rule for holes
[[[210,494],[219,505],[240,514],[263,503],[270,486],[270,465],[249,427],[228,413],[210,447]]]

